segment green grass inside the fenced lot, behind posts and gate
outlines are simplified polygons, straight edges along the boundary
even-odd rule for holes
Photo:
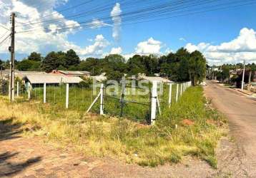
[[[176,87],[172,85],[172,101],[176,98]],[[139,92],[144,90],[141,88],[129,88],[125,89],[126,94],[124,96],[124,109],[123,117],[130,118],[139,122],[147,122],[149,120],[150,111],[150,93],[147,95],[138,95]],[[169,85],[163,86],[164,93],[160,95],[159,90],[159,103],[160,108],[164,109],[168,106],[169,99]],[[133,92],[133,95],[132,95]],[[179,91],[180,92],[180,91]],[[77,110],[79,112],[86,111],[92,104],[94,98],[97,97],[99,88],[93,92],[92,88],[82,88],[77,86],[69,86],[69,110]],[[135,95],[134,95],[135,94]],[[27,100],[27,93],[21,92],[19,98],[20,102]],[[116,93],[104,95],[104,113],[112,116],[120,116],[122,103],[121,98],[121,87]],[[42,103],[43,102],[43,85],[38,88],[31,90],[31,100]],[[46,87],[46,103],[51,105],[54,110],[66,110],[66,85],[61,86],[48,86]],[[99,100],[92,108],[92,112],[99,113]]]

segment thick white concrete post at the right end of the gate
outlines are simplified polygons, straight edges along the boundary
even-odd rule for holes
[[[151,114],[150,114],[150,125],[154,125],[154,121],[157,117],[157,81],[153,81],[151,91]]]

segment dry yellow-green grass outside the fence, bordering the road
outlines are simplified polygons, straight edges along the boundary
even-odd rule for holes
[[[175,90],[172,94],[175,95]],[[12,118],[13,123],[23,124],[26,135],[46,135],[49,140],[64,146],[73,145],[86,155],[116,157],[152,167],[181,162],[190,155],[216,167],[215,147],[225,135],[225,119],[207,107],[201,87],[188,88],[171,108],[164,104],[166,97],[165,93],[160,98],[163,100],[162,115],[157,117],[154,126],[124,118],[85,115],[84,110],[89,105],[85,102],[82,110],[65,110],[59,102],[43,105],[38,100],[31,100],[11,104],[3,98],[0,120]],[[137,105],[133,107],[129,110],[140,115],[141,109]],[[113,104],[112,108],[117,105]]]

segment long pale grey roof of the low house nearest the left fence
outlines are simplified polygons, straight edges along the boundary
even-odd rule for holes
[[[64,75],[56,74],[37,74],[37,75],[26,75],[24,80],[29,80],[31,84],[57,84],[57,83],[80,83],[82,79],[79,77],[67,77]]]

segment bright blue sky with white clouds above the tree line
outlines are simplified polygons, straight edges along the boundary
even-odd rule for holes
[[[82,2],[84,1],[41,0],[41,6],[38,6],[39,4],[35,4],[31,0],[23,0],[19,3],[15,0],[3,0],[0,4],[0,7],[6,7],[0,10],[0,23],[3,26],[9,26],[8,14],[11,10],[17,11],[17,21],[23,23],[34,21],[34,17],[28,11],[36,12],[38,17],[44,17],[45,14],[49,16],[50,14],[49,19],[51,20],[62,15],[65,17],[58,24],[54,22],[51,24],[50,34],[43,30],[46,26],[49,28],[49,23],[25,27],[18,23],[16,31],[24,31],[32,27],[36,31],[17,34],[16,58],[21,60],[33,51],[46,55],[50,51],[65,51],[68,48],[74,48],[83,59],[89,56],[100,58],[109,53],[120,53],[129,58],[135,53],[164,55],[169,51],[176,51],[178,48],[185,47],[189,51],[202,51],[209,63],[237,63],[243,59],[246,59],[247,63],[256,61],[256,21],[254,19],[256,4],[134,24],[126,24],[122,14],[131,9],[139,9],[139,5],[144,5],[142,1],[134,7],[125,6],[126,1],[92,1],[87,5],[61,12],[63,9]],[[232,1],[224,0],[222,2],[229,3]],[[79,12],[90,11],[97,6],[103,6],[103,4],[110,5],[104,12],[95,11],[94,14],[81,19],[67,18],[79,14]],[[136,1],[133,5],[136,5]],[[230,3],[231,5],[232,3]],[[149,1],[147,6],[154,6],[154,1]],[[24,7],[28,10],[25,11]],[[114,21],[111,15],[114,8],[116,8],[117,15],[120,15],[117,21]],[[108,16],[110,19],[101,21],[100,17],[102,16]],[[81,26],[80,22],[88,19],[99,19],[100,23],[97,23],[97,28],[92,25],[90,28],[70,29],[64,33],[56,32],[58,26],[68,26],[67,21],[69,24]],[[116,23],[117,26],[115,26]],[[39,30],[40,27],[41,30]],[[117,37],[113,36],[115,30]],[[0,31],[1,38],[5,30],[0,27]],[[9,53],[6,53],[6,46],[8,46],[7,43],[4,47],[0,46],[0,58],[9,58]]]

